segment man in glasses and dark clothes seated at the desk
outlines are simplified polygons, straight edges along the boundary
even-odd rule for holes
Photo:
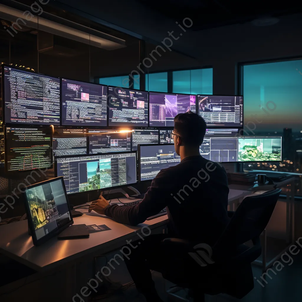
[[[207,243],[213,246],[228,223],[228,182],[219,163],[203,158],[199,146],[207,125],[191,111],[174,118],[175,151],[181,162],[162,169],[153,179],[143,200],[133,206],[108,204],[103,197],[89,207],[119,223],[137,225],[167,208],[169,237]],[[160,271],[165,251],[160,242],[167,234],[150,235],[142,240],[125,259],[135,285],[147,301],[161,301],[156,293],[150,269]],[[147,261],[146,261],[147,260]]]

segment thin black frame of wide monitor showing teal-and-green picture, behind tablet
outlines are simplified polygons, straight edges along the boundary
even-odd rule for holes
[[[114,187],[106,187],[106,188],[100,188],[100,189],[95,189],[95,190],[89,190],[89,191],[83,191],[83,192],[72,192],[72,193],[67,193],[67,195],[72,195],[72,194],[78,194],[78,193],[85,193],[85,192],[102,192],[102,191],[108,191],[108,190],[114,190],[118,188],[123,188],[131,185],[135,185],[138,183],[138,175],[137,175],[137,151],[124,151],[124,152],[108,152],[108,153],[95,153],[95,154],[81,154],[81,155],[64,155],[64,156],[56,156],[55,161],[54,161],[54,175],[55,177],[60,177],[58,176],[58,166],[57,166],[57,159],[63,159],[63,158],[69,158],[69,157],[84,157],[84,156],[98,156],[98,155],[115,155],[115,154],[125,154],[125,153],[136,153],[135,154],[135,171],[136,171],[136,182],[133,182],[131,184],[126,184],[126,185],[119,185],[119,186],[114,186]],[[63,177],[63,176],[62,176]]]

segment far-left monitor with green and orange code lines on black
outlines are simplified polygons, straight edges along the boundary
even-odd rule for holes
[[[52,169],[52,128],[5,127],[6,171]]]

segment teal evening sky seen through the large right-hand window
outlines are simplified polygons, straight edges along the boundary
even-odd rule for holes
[[[298,70],[297,70],[298,69]],[[302,130],[302,60],[245,65],[243,67],[243,112],[244,124],[257,114],[257,131],[282,132],[292,128]],[[266,104],[273,101],[274,111],[268,111]],[[259,105],[263,106],[267,115]],[[274,108],[271,103],[270,108]],[[252,126],[251,126],[252,128]]]

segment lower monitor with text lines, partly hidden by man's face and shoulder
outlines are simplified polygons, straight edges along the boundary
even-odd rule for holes
[[[174,145],[139,145],[140,181],[152,180],[161,169],[180,163]]]

